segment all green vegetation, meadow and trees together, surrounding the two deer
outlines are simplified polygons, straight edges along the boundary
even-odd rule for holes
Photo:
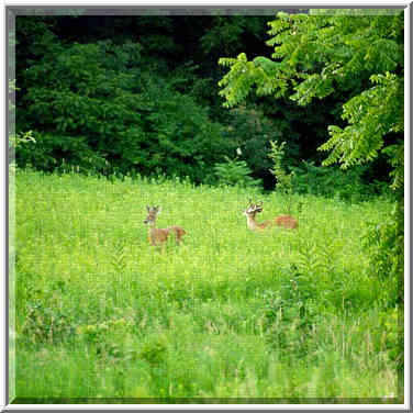
[[[400,402],[403,12],[186,13],[10,14],[11,399]]]

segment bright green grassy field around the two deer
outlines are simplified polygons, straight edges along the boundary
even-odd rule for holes
[[[19,398],[383,398],[394,312],[361,237],[390,202],[297,197],[298,231],[250,232],[275,193],[19,171]],[[180,225],[181,246],[149,246]],[[12,249],[12,253],[14,249]]]

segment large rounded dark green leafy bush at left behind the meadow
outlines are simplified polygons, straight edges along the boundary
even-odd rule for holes
[[[70,165],[79,165],[80,157],[93,170],[105,159],[121,174],[202,182],[226,153],[222,126],[145,66],[136,43],[74,44],[45,56],[24,76],[29,87],[18,112],[20,127],[47,135],[47,144],[36,156],[21,152],[19,160],[30,158],[37,169],[59,167],[62,155]]]

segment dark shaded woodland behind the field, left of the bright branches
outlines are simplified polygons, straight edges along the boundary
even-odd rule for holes
[[[36,139],[19,148],[18,163],[212,183],[213,166],[245,146],[256,175],[265,175],[254,136],[265,123],[271,137],[270,123],[221,109],[216,60],[248,42],[264,48],[269,18],[193,19],[18,16],[18,129]]]

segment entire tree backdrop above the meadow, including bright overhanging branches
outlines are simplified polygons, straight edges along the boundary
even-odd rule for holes
[[[331,160],[347,150],[333,137],[342,142],[341,136],[353,136],[351,127],[357,127],[361,115],[354,108],[361,104],[368,116],[375,116],[366,109],[370,96],[379,102],[390,88],[391,105],[402,92],[400,16],[381,15],[369,29],[371,16],[281,13],[275,18],[270,10],[267,15],[83,12],[16,16],[16,132],[33,131],[36,141],[18,148],[21,166],[167,174],[212,183],[217,179],[214,167],[225,159],[234,161],[239,148],[238,160],[246,163],[252,177],[274,188],[270,142],[286,141],[288,170],[295,170],[295,188],[305,192],[311,190],[308,175],[324,171],[320,165],[325,154],[317,148],[333,145]],[[266,44],[269,22],[274,37]],[[279,55],[271,59],[275,45]],[[359,52],[353,56],[356,46]],[[216,62],[228,55],[238,58],[235,66],[235,60],[222,60],[232,66],[225,76],[226,69]],[[248,62],[247,55],[258,57]],[[343,60],[338,71],[334,59]],[[236,71],[245,67],[249,71],[239,76]],[[371,75],[377,75],[376,83],[370,82]],[[231,93],[243,100],[250,90],[248,82],[256,82],[258,94],[265,96],[249,96],[244,104],[225,110],[217,85],[222,78],[228,81],[223,90],[228,102]],[[344,102],[348,104],[343,107]],[[400,105],[391,109],[400,113]],[[376,139],[368,155],[377,153],[377,157],[356,168],[361,186],[388,179],[390,169],[397,174],[394,181],[400,181],[395,171],[402,159],[393,155],[402,152],[402,119],[397,122],[376,134],[371,120],[365,119]],[[328,125],[335,127],[328,132]],[[334,136],[326,143],[328,133]],[[380,142],[384,146],[378,147]],[[355,152],[348,163],[366,155],[365,146],[357,147],[359,155]],[[354,177],[334,166],[326,170],[342,180]],[[365,193],[375,188],[382,186],[375,183]]]

